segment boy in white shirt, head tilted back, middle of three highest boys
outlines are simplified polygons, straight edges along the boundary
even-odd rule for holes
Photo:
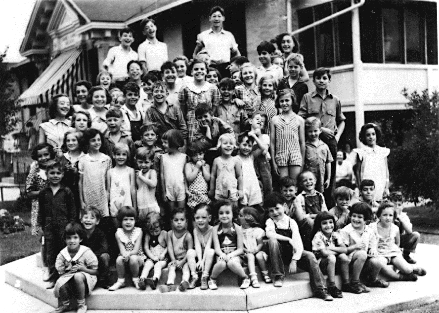
[[[143,74],[152,72],[161,79],[160,67],[168,61],[168,46],[156,38],[157,26],[153,19],[144,19],[140,26],[143,35],[146,35],[145,41],[137,49]]]

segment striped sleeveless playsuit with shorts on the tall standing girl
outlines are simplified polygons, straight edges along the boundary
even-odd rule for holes
[[[278,115],[276,125],[276,164],[277,166],[302,166],[302,154],[299,144],[299,124],[297,115],[285,120],[282,114]]]

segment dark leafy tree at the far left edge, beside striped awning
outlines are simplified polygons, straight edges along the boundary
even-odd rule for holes
[[[14,90],[12,88],[12,75],[7,69],[3,59],[6,56],[7,48],[0,53],[0,135],[4,136],[13,131],[19,118],[16,113],[19,105],[16,103]]]

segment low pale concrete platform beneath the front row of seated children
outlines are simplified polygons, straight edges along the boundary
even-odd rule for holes
[[[282,288],[261,283],[261,288],[239,289],[223,286],[218,290],[187,290],[162,294],[158,290],[139,291],[133,287],[109,292],[97,288],[87,299],[89,312],[142,313],[153,312],[364,312],[415,299],[436,299],[439,269],[435,260],[439,246],[420,244],[416,258],[427,269],[428,275],[417,282],[392,282],[387,289],[375,288],[369,294],[344,293],[343,299],[324,302],[312,296],[307,273],[286,279]],[[11,310],[2,312],[49,312],[57,304],[51,290],[44,289],[43,270],[36,266],[35,256],[30,256],[0,267],[6,283],[0,292],[6,295]],[[293,279],[294,278],[294,279]],[[13,288],[14,286],[15,288]],[[23,292],[17,290],[22,290]],[[31,296],[29,296],[31,295]],[[37,300],[39,299],[39,300]],[[434,301],[434,300],[433,300]],[[97,310],[97,311],[95,311]],[[115,311],[113,311],[115,310]],[[146,311],[148,310],[148,311]],[[162,310],[162,311],[158,311]],[[175,310],[175,311],[174,311]]]

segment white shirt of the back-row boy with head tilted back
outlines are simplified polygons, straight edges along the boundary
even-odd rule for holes
[[[150,70],[159,70],[163,63],[168,61],[168,46],[164,42],[157,40],[152,43],[148,39],[143,41],[137,48],[139,61],[146,62],[146,68]]]

